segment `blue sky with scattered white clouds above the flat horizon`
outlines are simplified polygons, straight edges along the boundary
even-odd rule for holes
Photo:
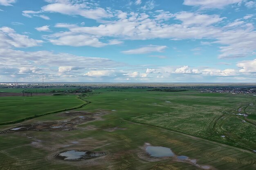
[[[0,82],[256,83],[256,0],[0,0]]]

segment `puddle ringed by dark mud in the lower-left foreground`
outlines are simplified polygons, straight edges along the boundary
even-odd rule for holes
[[[92,159],[97,157],[102,157],[107,155],[106,152],[90,152],[90,151],[83,151],[83,150],[67,150],[64,152],[60,152],[56,155],[56,158],[62,160],[85,160],[85,159]]]

